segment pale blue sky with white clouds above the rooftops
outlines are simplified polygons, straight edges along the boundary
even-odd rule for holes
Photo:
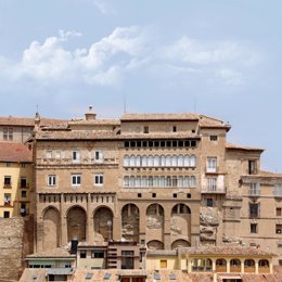
[[[0,0],[0,116],[198,113],[282,172],[281,0]]]

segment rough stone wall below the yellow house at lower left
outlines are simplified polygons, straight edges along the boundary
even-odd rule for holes
[[[0,218],[0,281],[18,280],[33,253],[33,218]]]

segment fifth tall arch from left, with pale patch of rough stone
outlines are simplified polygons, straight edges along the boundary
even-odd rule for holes
[[[154,230],[164,228],[164,208],[159,204],[151,204],[146,208],[146,228]]]

